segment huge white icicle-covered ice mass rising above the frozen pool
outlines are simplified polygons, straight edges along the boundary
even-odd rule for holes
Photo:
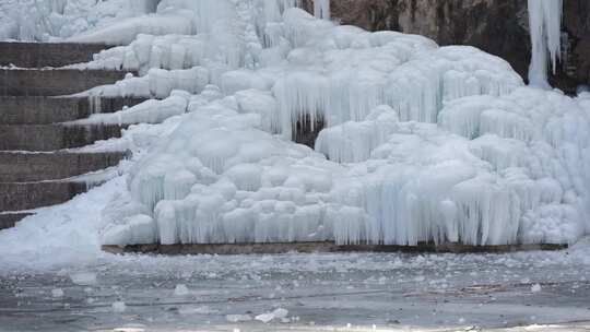
[[[148,73],[132,80],[153,81],[152,95],[181,88],[161,88],[154,67],[209,73],[129,173],[133,204],[107,208],[126,217],[105,244],[506,245],[587,232],[587,97],[527,87],[472,47],[338,26],[287,2],[220,1],[246,28],[140,35],[88,64]],[[200,3],[186,9],[200,17]],[[316,151],[291,142],[306,120],[326,126]]]

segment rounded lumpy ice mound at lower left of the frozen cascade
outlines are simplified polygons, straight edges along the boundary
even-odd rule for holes
[[[155,234],[140,234],[138,222],[129,220],[107,229],[106,244],[120,244],[121,236],[125,244],[329,236],[319,232],[322,205],[341,166],[260,130],[260,115],[239,114],[235,99],[217,99],[188,114],[170,141],[135,165],[129,177],[132,197],[153,215],[141,217],[139,228]]]

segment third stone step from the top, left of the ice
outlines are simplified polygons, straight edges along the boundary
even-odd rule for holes
[[[0,96],[0,124],[49,124],[113,112],[125,106],[143,103],[144,98],[64,98]]]

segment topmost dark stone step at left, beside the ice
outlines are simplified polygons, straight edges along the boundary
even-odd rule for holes
[[[92,61],[93,55],[107,48],[103,44],[0,43],[0,66],[63,67]]]

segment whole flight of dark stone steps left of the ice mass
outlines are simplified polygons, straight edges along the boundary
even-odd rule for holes
[[[72,150],[119,138],[125,127],[70,121],[144,100],[67,96],[125,78],[122,71],[59,69],[92,60],[104,48],[0,43],[0,66],[20,67],[0,69],[0,229],[34,213],[30,210],[63,203],[85,192],[94,182],[86,183],[83,175],[99,173],[129,157],[127,152]]]

